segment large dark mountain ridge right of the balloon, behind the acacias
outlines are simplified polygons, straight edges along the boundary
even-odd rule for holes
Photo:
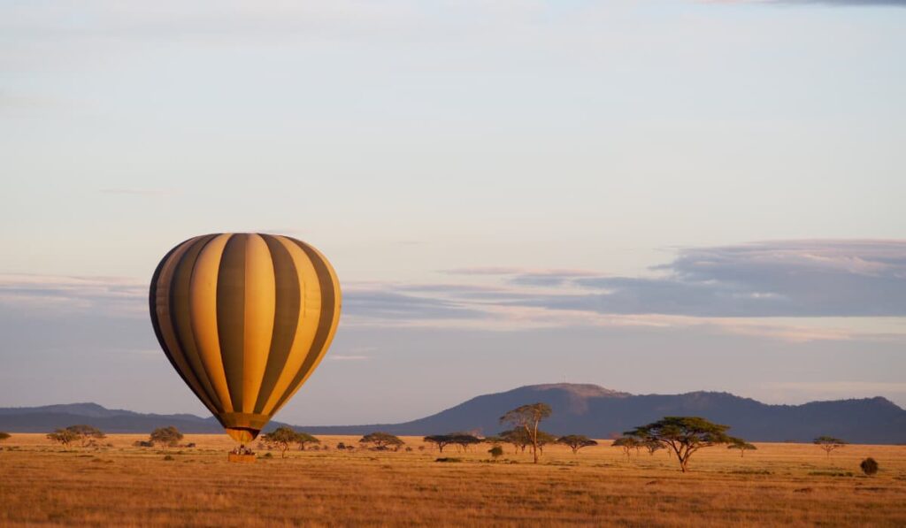
[[[374,430],[395,435],[432,435],[451,431],[495,434],[506,428],[499,417],[526,403],[554,409],[543,422],[554,435],[606,438],[665,416],[699,416],[730,426],[750,441],[809,442],[830,435],[861,444],[906,443],[906,410],[885,398],[815,401],[805,405],[766,405],[726,392],[632,395],[596,385],[531,385],[472,398],[427,418],[402,424],[354,427],[305,427],[314,434],[361,434]]]

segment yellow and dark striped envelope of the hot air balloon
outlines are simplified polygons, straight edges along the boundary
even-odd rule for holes
[[[311,376],[340,321],[340,283],[281,235],[190,238],[151,278],[160,347],[226,433],[248,442]]]

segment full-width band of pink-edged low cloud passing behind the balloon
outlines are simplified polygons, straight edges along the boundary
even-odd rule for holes
[[[783,341],[899,340],[906,334],[902,323],[864,323],[906,317],[906,241],[684,248],[651,272],[626,277],[484,267],[446,273],[464,282],[346,283],[343,324],[498,331],[695,327]],[[480,284],[468,283],[477,275]],[[144,317],[147,288],[128,278],[5,274],[0,303],[36,312]]]

